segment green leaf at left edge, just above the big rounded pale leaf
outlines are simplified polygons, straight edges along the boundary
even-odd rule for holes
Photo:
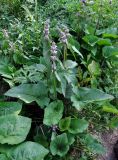
[[[21,112],[22,104],[18,102],[0,102],[0,116],[7,114],[18,115]]]

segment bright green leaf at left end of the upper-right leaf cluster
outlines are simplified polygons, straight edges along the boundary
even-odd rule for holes
[[[98,42],[98,37],[94,36],[94,35],[86,35],[83,37],[83,40],[89,44],[90,46],[94,46],[97,42]]]

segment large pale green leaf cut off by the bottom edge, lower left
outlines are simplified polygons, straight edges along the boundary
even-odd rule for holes
[[[10,160],[43,160],[48,150],[35,142],[24,142],[11,150]]]

